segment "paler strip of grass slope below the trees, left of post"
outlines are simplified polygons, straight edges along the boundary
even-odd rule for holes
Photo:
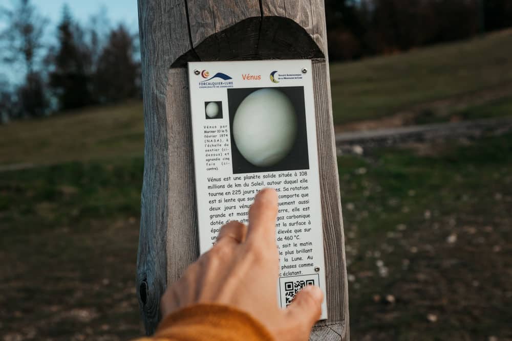
[[[140,156],[142,103],[90,107],[0,126],[0,165]]]

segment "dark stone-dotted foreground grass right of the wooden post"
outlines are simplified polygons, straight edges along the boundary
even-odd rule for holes
[[[512,335],[512,134],[437,148],[338,160],[354,339]]]

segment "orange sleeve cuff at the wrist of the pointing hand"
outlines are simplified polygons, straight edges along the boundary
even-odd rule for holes
[[[160,322],[153,337],[138,341],[275,341],[251,315],[238,309],[197,304],[178,310]]]

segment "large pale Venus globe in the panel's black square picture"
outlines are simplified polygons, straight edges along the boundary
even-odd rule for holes
[[[295,143],[295,109],[280,90],[256,90],[240,103],[232,131],[245,160],[258,167],[273,166],[288,155]]]

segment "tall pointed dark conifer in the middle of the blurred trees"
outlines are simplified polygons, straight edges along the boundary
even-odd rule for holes
[[[74,22],[69,8],[63,8],[57,28],[58,48],[51,49],[47,62],[51,65],[50,86],[61,110],[92,103],[92,57],[83,39],[83,31]]]

